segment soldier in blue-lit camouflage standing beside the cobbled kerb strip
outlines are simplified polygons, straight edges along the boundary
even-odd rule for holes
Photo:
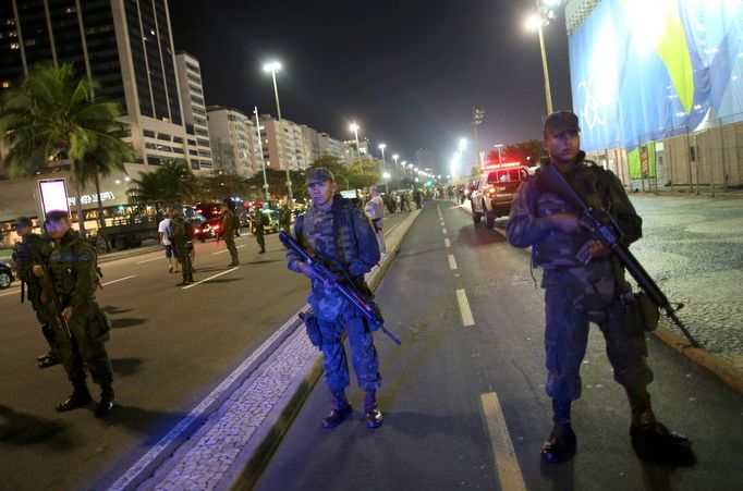
[[[336,194],[336,181],[328,169],[310,169],[306,184],[313,204],[294,223],[296,242],[337,272],[339,278],[345,278],[342,269],[345,270],[360,291],[370,295],[364,274],[379,261],[379,246],[368,219],[351,201]],[[319,324],[325,383],[332,401],[330,415],[322,420],[322,426],[333,428],[352,414],[345,398],[349,366],[342,335],[346,332],[356,380],[364,391],[366,426],[379,427],[382,415],[377,408],[376,391],[381,376],[369,324],[352,304],[325,284],[312,267],[291,249],[287,253],[287,262],[289,269],[312,280],[307,300]]]

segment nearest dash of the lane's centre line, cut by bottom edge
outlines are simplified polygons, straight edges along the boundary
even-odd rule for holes
[[[511,435],[506,426],[506,418],[503,418],[498,395],[495,392],[480,394],[479,402],[490,435],[500,488],[507,491],[526,491],[524,476],[513,450],[513,442],[511,442]]]

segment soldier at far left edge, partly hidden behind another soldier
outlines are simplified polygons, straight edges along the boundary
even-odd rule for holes
[[[21,279],[22,289],[26,289],[26,298],[31,302],[36,318],[41,324],[41,333],[49,344],[49,352],[36,358],[39,368],[47,368],[59,365],[61,357],[54,341],[54,331],[51,328],[49,312],[41,304],[41,283],[38,278],[32,273],[32,265],[34,258],[42,260],[48,255],[49,240],[39,234],[32,233],[33,222],[29,218],[19,217],[15,220],[15,232],[22,237],[22,241],[15,244],[13,248],[13,261]],[[21,293],[21,300],[23,302],[23,292]]]

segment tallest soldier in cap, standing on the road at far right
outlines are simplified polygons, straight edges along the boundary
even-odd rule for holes
[[[614,217],[624,232],[622,245],[629,246],[642,236],[642,219],[619,179],[584,160],[578,132],[574,113],[550,114],[544,126],[549,159],[541,164],[556,165],[589,207]],[[541,447],[541,457],[560,463],[575,454],[570,408],[581,396],[580,369],[590,321],[600,328],[614,379],[626,391],[632,410],[630,434],[638,456],[679,464],[693,461],[691,442],[658,422],[650,407],[647,385],[653,371],[646,364],[644,327],[632,315],[633,307],[623,302],[631,285],[610,249],[592,238],[576,210],[540,188],[539,171],[519,188],[506,232],[511,245],[532,246],[535,265],[544,268],[546,391],[552,398],[553,428]],[[578,251],[590,260],[578,260]]]

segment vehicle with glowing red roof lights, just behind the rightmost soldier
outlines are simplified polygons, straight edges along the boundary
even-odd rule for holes
[[[477,180],[470,184],[472,221],[485,218],[485,226],[496,226],[498,217],[507,217],[521,182],[528,177],[528,169],[521,162],[487,165]]]

